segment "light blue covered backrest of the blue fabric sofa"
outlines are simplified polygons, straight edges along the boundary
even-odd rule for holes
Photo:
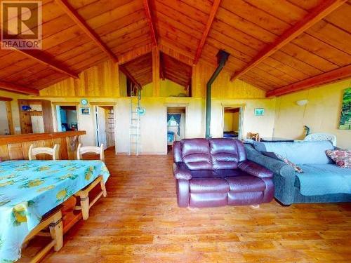
[[[333,163],[325,151],[334,149],[329,141],[318,142],[253,142],[257,151],[273,151],[293,163]]]

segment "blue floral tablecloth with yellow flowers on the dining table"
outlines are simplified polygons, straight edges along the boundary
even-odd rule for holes
[[[102,161],[0,162],[0,262],[20,258],[41,216],[93,182],[110,176]]]

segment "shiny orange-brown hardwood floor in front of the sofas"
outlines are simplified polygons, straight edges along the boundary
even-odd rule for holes
[[[350,262],[351,204],[187,210],[171,155],[105,154],[107,198],[44,262]]]

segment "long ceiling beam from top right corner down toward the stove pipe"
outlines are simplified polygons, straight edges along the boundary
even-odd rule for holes
[[[305,32],[305,30],[312,27],[320,20],[322,20],[326,15],[336,10],[339,6],[344,4],[347,0],[325,0],[322,1],[316,8],[314,8],[310,13],[308,13],[305,18],[297,22],[295,25],[287,29],[281,36],[278,37],[273,43],[265,46],[260,52],[249,62],[244,69],[236,72],[230,78],[230,81],[239,78],[239,76],[244,75],[250,69],[258,65],[258,63],[268,58],[274,52],[285,46],[287,43],[291,42],[297,36]]]

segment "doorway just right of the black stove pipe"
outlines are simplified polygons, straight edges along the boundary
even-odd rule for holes
[[[241,107],[223,107],[223,137],[241,139]]]

